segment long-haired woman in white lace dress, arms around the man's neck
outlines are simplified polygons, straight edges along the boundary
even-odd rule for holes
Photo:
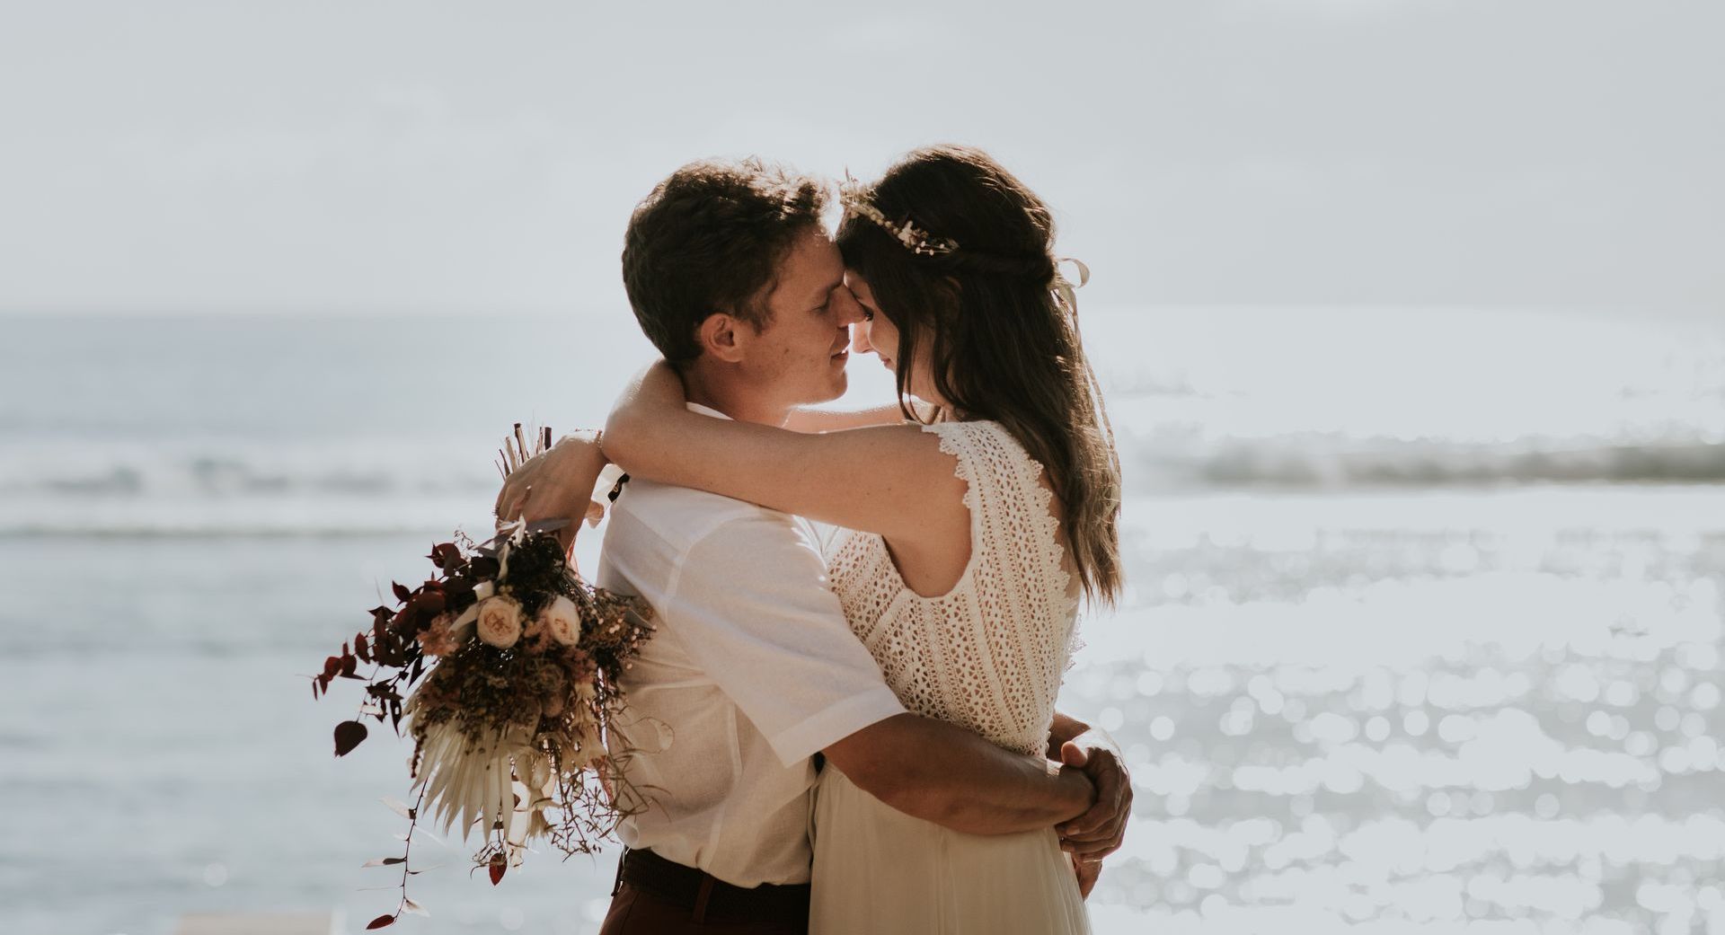
[[[833,590],[906,707],[1040,754],[1078,599],[1121,583],[1120,468],[1049,209],[964,147],[913,152],[844,205],[852,348],[895,373],[914,424],[712,419],[659,366],[619,400],[605,455],[854,530],[830,554]],[[835,768],[816,795],[812,932],[1087,930],[1052,828],[950,831]]]

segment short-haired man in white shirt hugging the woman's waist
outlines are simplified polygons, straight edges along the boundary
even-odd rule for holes
[[[630,304],[692,409],[781,426],[797,405],[844,393],[861,309],[821,226],[823,198],[814,181],[759,162],[699,162],[637,209]],[[500,514],[580,518],[600,466],[597,445],[559,445],[511,478]],[[1118,757],[1066,744],[1085,730],[1070,718],[1051,738],[1068,766],[1051,771],[906,712],[826,588],[806,521],[635,481],[605,530],[599,585],[642,595],[657,616],[623,685],[614,752],[633,814],[604,933],[804,932],[816,756],[954,830],[1066,821],[1075,852],[1118,847],[1130,809]]]

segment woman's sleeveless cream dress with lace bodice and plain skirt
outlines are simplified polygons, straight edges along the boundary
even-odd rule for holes
[[[969,488],[971,557],[957,585],[921,597],[878,535],[845,533],[833,590],[907,709],[1042,756],[1073,645],[1078,602],[1061,568],[1042,466],[999,423],[926,426]],[[911,818],[828,764],[814,804],[821,933],[1088,932],[1052,828],[966,835]]]

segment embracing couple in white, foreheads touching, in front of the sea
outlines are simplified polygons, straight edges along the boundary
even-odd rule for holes
[[[664,361],[499,495],[580,518],[631,478],[597,583],[657,633],[602,933],[1087,932],[1132,792],[1056,693],[1121,587],[1120,468],[1049,209],[966,147],[847,185],[837,238],[826,197],[756,160],[662,181],[623,274]],[[802,409],[869,352],[899,405]]]

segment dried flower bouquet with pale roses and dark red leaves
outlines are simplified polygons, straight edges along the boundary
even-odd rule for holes
[[[549,428],[533,433],[530,452],[516,424],[499,471],[507,478],[549,447]],[[436,574],[417,588],[393,585],[400,606],[373,609],[371,630],[312,676],[312,697],[336,678],[367,683],[359,716],[335,728],[335,756],[366,738],[367,716],[386,718],[397,733],[405,719],[414,738],[417,799],[385,799],[409,819],[405,850],[366,864],[402,868],[402,902],[367,928],[424,913],[407,897],[407,876],[417,873],[407,856],[426,814],[462,840],[480,831],[473,859],[493,885],[530,842],[588,854],[624,818],[605,737],[623,706],[618,676],[652,633],[650,612],[585,583],[557,540],[562,526],[514,523],[485,543],[457,533],[433,545]],[[369,676],[357,675],[361,662],[373,666]]]

